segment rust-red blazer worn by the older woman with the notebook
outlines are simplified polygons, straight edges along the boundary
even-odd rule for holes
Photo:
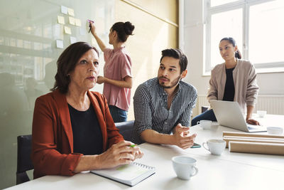
[[[114,125],[107,100],[100,93],[87,92],[102,130],[103,151],[124,140]],[[35,101],[33,112],[33,176],[72,176],[82,154],[73,152],[73,133],[65,95],[55,90]]]

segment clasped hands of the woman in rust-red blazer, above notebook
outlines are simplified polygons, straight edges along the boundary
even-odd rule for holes
[[[99,154],[97,169],[116,167],[121,164],[130,164],[136,158],[143,157],[140,148],[130,147],[133,143],[129,141],[119,142],[112,145],[106,152]]]

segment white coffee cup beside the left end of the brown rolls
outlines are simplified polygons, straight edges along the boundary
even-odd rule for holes
[[[205,147],[205,144],[207,144],[207,147]],[[222,139],[209,139],[207,142],[202,143],[202,147],[211,152],[211,154],[221,155],[226,148],[226,141]]]

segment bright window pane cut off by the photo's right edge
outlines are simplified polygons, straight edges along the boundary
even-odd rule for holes
[[[284,61],[284,1],[250,7],[249,60],[251,63]]]

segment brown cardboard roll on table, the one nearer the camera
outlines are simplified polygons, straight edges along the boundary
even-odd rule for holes
[[[284,155],[284,144],[265,142],[229,142],[230,152]]]

